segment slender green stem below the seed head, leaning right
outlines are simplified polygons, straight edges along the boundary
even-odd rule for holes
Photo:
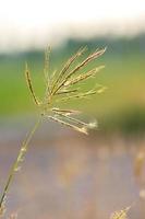
[[[0,198],[0,209],[4,206],[4,201],[5,201],[5,197],[7,194],[9,192],[10,185],[12,183],[12,180],[15,175],[15,172],[20,169],[20,164],[23,161],[25,153],[27,151],[28,148],[28,143],[32,139],[32,137],[34,136],[36,129],[38,128],[39,124],[40,124],[41,117],[35,123],[34,127],[32,128],[31,132],[27,135],[26,139],[23,141],[21,149],[19,151],[19,154],[15,159],[15,161],[13,162],[13,165],[11,166],[8,180],[5,182],[1,198]]]

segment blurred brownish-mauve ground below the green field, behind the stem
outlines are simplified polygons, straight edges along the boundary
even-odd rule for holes
[[[23,119],[0,127],[0,191],[27,129]],[[134,171],[143,148],[145,138],[86,137],[53,123],[43,124],[11,186],[7,215],[109,219],[111,212],[135,203],[130,218],[144,219],[145,198],[140,193],[145,189],[145,162],[141,174]]]

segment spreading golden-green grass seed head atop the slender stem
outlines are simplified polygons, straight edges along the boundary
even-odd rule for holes
[[[93,129],[97,127],[97,123],[84,123],[81,119],[76,119],[74,117],[76,111],[74,110],[65,110],[65,108],[57,108],[55,107],[58,102],[67,102],[69,103],[73,99],[85,99],[90,97],[94,94],[101,93],[105,91],[105,87],[100,87],[99,89],[92,89],[85,92],[82,92],[80,88],[77,88],[77,83],[87,81],[89,78],[95,77],[96,73],[104,68],[104,66],[96,67],[95,69],[90,69],[85,72],[85,67],[101,56],[106,48],[97,49],[90,55],[88,55],[81,64],[72,67],[75,61],[86,51],[86,47],[78,49],[71,58],[62,67],[60,72],[55,71],[55,73],[50,74],[49,69],[49,56],[50,48],[46,49],[45,53],[45,68],[44,68],[44,80],[45,80],[45,94],[41,102],[35,95],[34,87],[31,79],[31,73],[28,67],[26,65],[25,76],[27,81],[27,87],[33,96],[34,103],[41,108],[41,115],[46,118],[52,119],[61,125],[68,126],[83,134],[88,134],[88,129]],[[70,69],[71,68],[71,69]],[[80,73],[80,70],[83,69],[83,72]],[[73,88],[75,85],[75,88]]]

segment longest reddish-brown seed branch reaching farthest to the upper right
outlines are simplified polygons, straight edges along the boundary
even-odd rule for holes
[[[57,87],[57,89],[55,90],[53,93],[56,93],[58,90],[60,90],[65,82],[75,73],[77,72],[81,68],[85,67],[88,62],[90,62],[92,60],[98,58],[99,56],[101,56],[106,51],[106,48],[95,51],[94,54],[89,55],[84,61],[82,61],[78,66],[76,66],[63,80],[62,82]]]

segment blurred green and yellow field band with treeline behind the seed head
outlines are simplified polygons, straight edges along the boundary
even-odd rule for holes
[[[86,115],[95,116],[100,129],[121,129],[141,131],[145,129],[145,62],[144,36],[133,39],[94,39],[88,42],[70,41],[60,48],[53,49],[50,59],[50,71],[60,69],[62,64],[76,51],[81,45],[87,45],[88,51],[108,46],[104,57],[93,66],[105,65],[106,69],[97,76],[97,83],[106,85],[105,93],[90,100],[70,103],[75,108],[83,108]],[[0,116],[34,114],[24,79],[25,61],[32,71],[36,93],[43,93],[44,51],[1,55],[0,57]],[[90,67],[90,66],[89,66]],[[88,67],[88,68],[89,68]],[[87,87],[95,84],[89,80]],[[87,88],[85,88],[87,89]]]

